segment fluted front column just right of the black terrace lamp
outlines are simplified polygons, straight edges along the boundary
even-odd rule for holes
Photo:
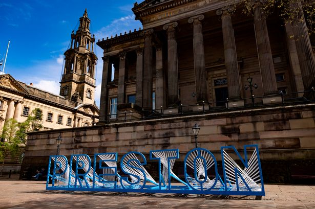
[[[255,2],[254,22],[264,95],[278,95],[266,17],[260,0]]]

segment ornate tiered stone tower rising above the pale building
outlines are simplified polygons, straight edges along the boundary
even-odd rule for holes
[[[95,38],[90,33],[87,9],[79,20],[78,30],[71,34],[70,49],[65,52],[60,95],[80,104],[94,104],[97,57],[93,52]]]

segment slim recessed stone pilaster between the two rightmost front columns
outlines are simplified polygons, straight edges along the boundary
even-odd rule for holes
[[[289,23],[286,24],[285,31],[286,31],[286,36],[287,36],[286,43],[287,43],[287,48],[288,48],[290,67],[291,67],[291,71],[295,79],[296,89],[297,91],[304,91],[299,56],[298,56],[298,51],[296,47],[296,42],[293,38],[292,25]],[[300,93],[299,97],[302,97],[302,96],[303,96],[303,93]]]

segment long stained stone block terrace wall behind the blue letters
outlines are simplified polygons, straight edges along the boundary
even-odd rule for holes
[[[139,151],[148,156],[150,150],[178,148],[180,170],[185,154],[195,148],[192,127],[197,122],[198,146],[212,151],[218,161],[222,146],[233,145],[242,152],[243,145],[258,144],[264,178],[288,182],[291,173],[303,174],[314,164],[314,108],[315,104],[284,105],[34,132],[23,167],[46,165],[49,155],[56,154],[55,140],[61,133],[60,155],[118,152],[122,156]],[[297,165],[302,169],[290,170]]]

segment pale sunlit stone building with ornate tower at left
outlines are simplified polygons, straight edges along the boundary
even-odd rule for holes
[[[43,114],[44,130],[93,126],[98,122],[99,109],[94,102],[97,57],[87,11],[71,40],[71,47],[65,52],[60,95],[16,81],[9,74],[0,75],[1,131],[5,121],[14,118],[24,122],[35,108]]]

